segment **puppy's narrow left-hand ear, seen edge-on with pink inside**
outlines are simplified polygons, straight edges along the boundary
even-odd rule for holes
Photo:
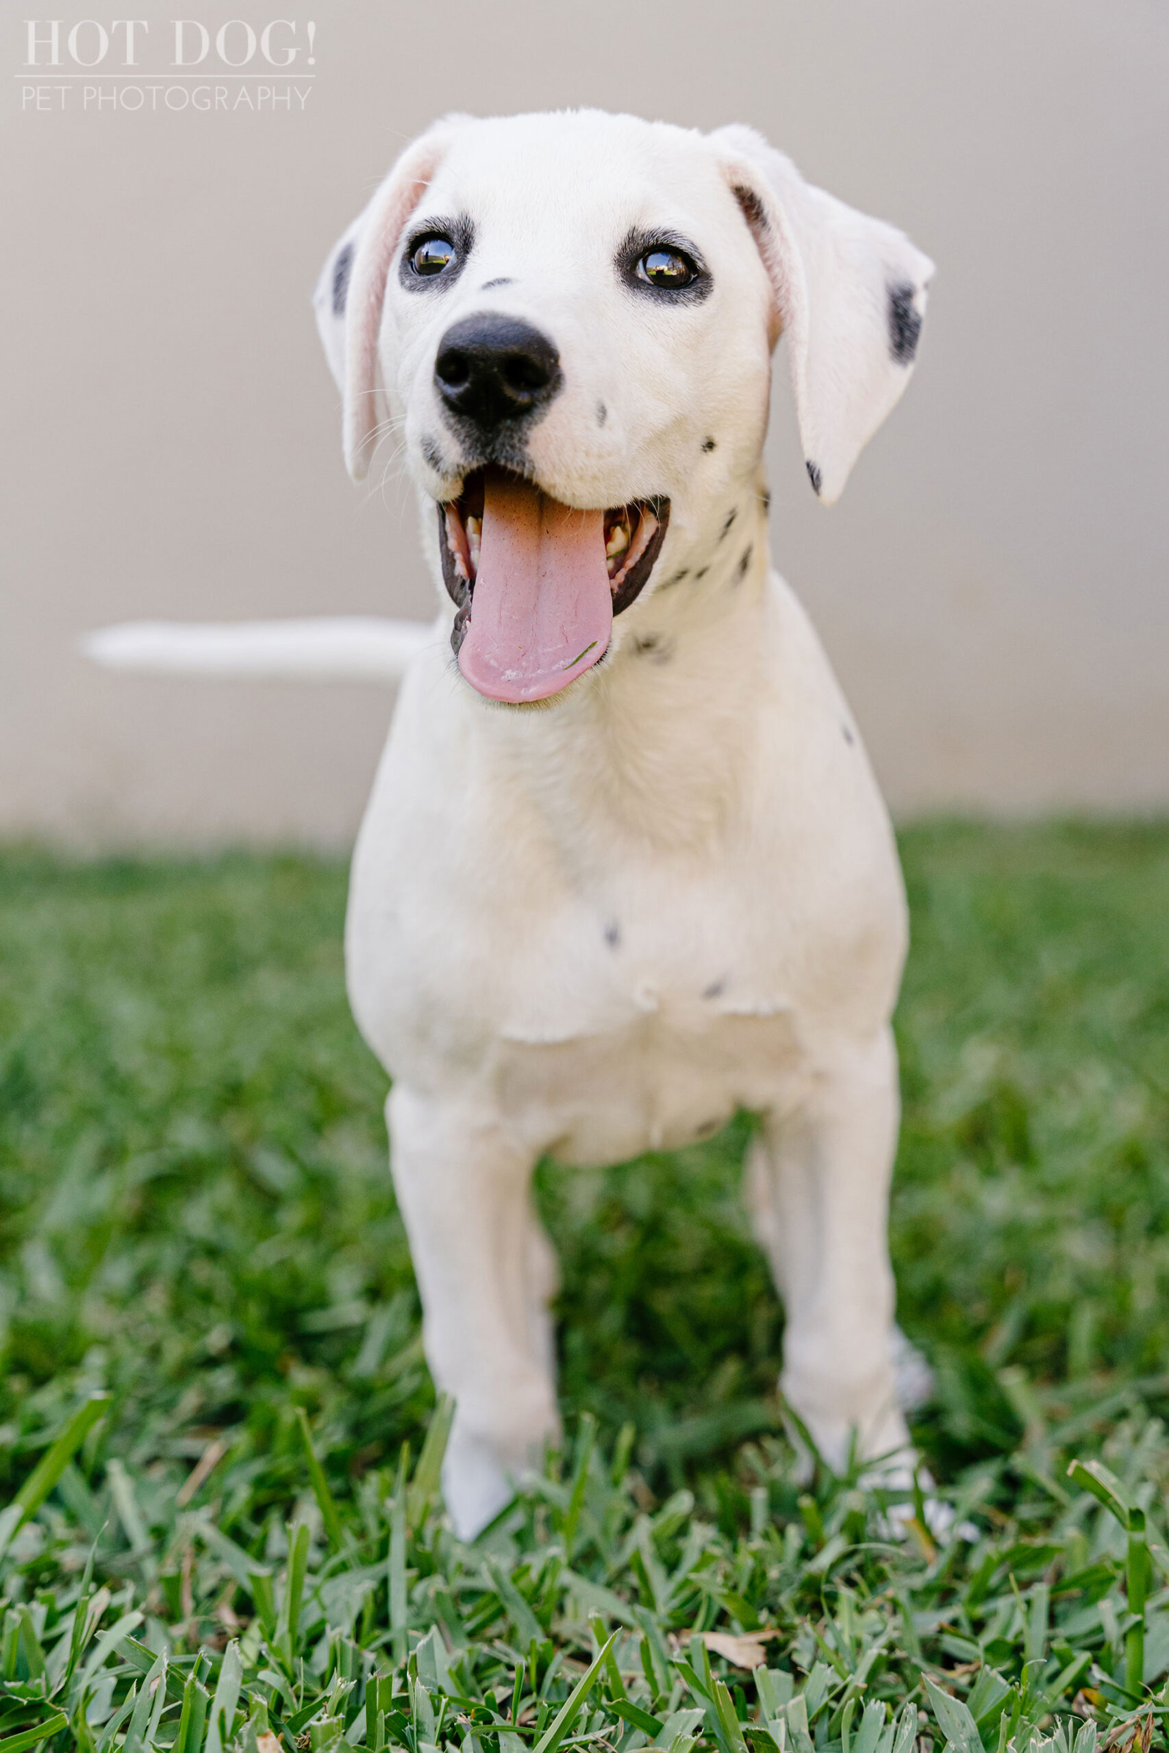
[[[389,265],[447,153],[450,131],[450,123],[438,123],[405,149],[373,200],[329,251],[312,295],[324,356],[344,398],[342,444],[354,480],[365,479],[375,447],[377,337]]]

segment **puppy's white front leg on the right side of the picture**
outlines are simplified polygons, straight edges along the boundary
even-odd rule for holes
[[[889,1180],[897,1143],[890,1031],[832,1054],[764,1117],[747,1201],[783,1297],[780,1387],[832,1467],[911,1457],[894,1392]]]

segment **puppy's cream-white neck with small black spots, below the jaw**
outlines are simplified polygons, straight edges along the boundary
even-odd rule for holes
[[[508,785],[573,861],[615,841],[694,857],[734,833],[766,685],[761,487],[729,496],[622,617],[606,663],[547,708],[477,710]]]

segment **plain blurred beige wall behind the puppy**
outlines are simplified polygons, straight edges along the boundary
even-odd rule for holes
[[[303,114],[86,112],[77,81],[23,112],[30,11],[0,28],[0,833],[352,834],[386,692],[117,678],[74,642],[428,610],[405,489],[344,475],[308,289],[433,114],[571,103],[755,123],[939,265],[917,379],[840,507],[806,487],[785,387],[771,436],[778,563],[896,808],[1169,806],[1164,0],[130,9],[149,70],[175,14],[315,19]]]

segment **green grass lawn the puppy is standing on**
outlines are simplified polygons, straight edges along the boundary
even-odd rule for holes
[[[890,1541],[855,1481],[796,1480],[782,1317],[738,1204],[743,1118],[680,1155],[540,1169],[575,1446],[487,1548],[457,1546],[433,1501],[442,1420],[412,1492],[400,1471],[433,1392],[386,1080],[342,990],[344,869],[0,855],[0,1488],[28,1492],[109,1395],[7,1529],[0,1753],[46,1723],[56,1748],[170,1746],[184,1686],[193,1753],[202,1679],[231,1683],[237,1639],[247,1748],[270,1720],[286,1748],[368,1721],[373,1749],[379,1700],[412,1753],[556,1753],[561,1732],[622,1753],[913,1753],[915,1734],[994,1753],[1001,1732],[1062,1735],[1076,1695],[1129,1721],[1125,1532],[1064,1469],[1104,1453],[1148,1509],[1155,1690],[1169,829],[936,826],[903,852],[899,1318],[936,1371],[918,1441],[976,1537]],[[752,1625],[780,1634],[773,1679],[687,1641]],[[549,1739],[612,1630],[615,1665]],[[119,1721],[156,1657],[158,1721],[149,1685]],[[931,1683],[973,1690],[978,1727]]]

